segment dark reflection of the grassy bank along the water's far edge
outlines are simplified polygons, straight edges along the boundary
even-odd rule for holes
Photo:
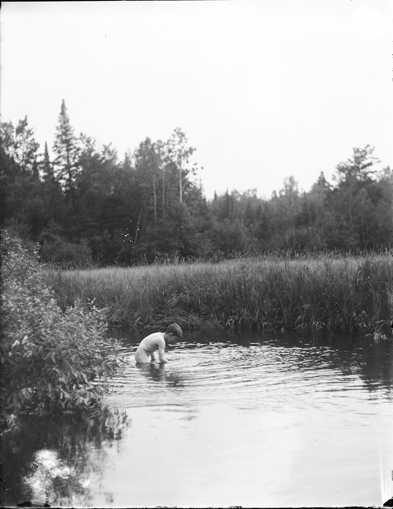
[[[144,334],[134,329],[112,329],[110,335],[122,338],[124,352],[134,352]],[[336,335],[304,336],[301,334],[265,334],[253,331],[185,331],[184,342],[170,346],[169,353],[179,359],[178,353],[187,350],[210,351],[213,356],[223,355],[228,362],[227,348],[240,347],[244,352],[244,364],[235,367],[247,369],[256,360],[256,347],[269,347],[271,360],[279,361],[285,371],[339,370],[344,376],[356,376],[370,392],[384,390],[390,398],[393,388],[393,338],[378,342],[372,336]],[[190,353],[191,355],[191,353]],[[184,360],[184,357],[183,359]],[[216,359],[214,359],[216,360]],[[239,359],[233,359],[238,361]],[[211,358],[205,364],[211,365]],[[133,365],[132,359],[130,364]],[[202,363],[203,364],[203,363]],[[157,364],[152,364],[158,369]],[[229,366],[231,367],[231,366]],[[169,366],[167,366],[168,370]],[[172,370],[172,367],[171,367]],[[165,370],[164,370],[165,371]],[[180,376],[180,374],[178,374]],[[155,375],[154,375],[155,376]],[[157,376],[157,379],[160,379]]]

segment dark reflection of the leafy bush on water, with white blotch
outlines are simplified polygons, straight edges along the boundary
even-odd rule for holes
[[[84,481],[103,465],[106,455],[103,444],[110,447],[121,440],[127,427],[125,413],[110,412],[106,408],[95,416],[81,413],[22,417],[20,430],[7,434],[1,444],[2,505],[34,501],[37,493],[32,486],[40,473],[45,477],[42,484],[50,505],[72,506],[76,503],[75,496],[83,505],[89,505],[89,486]],[[57,461],[58,471],[52,468],[51,479],[39,461],[42,455]],[[45,499],[36,501],[45,502]]]

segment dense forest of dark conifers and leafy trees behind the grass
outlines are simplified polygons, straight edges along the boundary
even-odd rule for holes
[[[121,159],[75,134],[65,101],[52,157],[27,118],[1,124],[2,227],[40,244],[45,262],[129,265],[164,254],[214,259],[234,251],[298,252],[385,247],[393,239],[393,176],[369,145],[323,172],[310,191],[295,178],[270,199],[233,190],[206,200],[195,149],[176,128]],[[241,168],[239,168],[241,171]]]

